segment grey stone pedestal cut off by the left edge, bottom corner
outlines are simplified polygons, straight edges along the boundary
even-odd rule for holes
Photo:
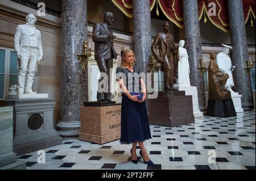
[[[0,170],[26,169],[13,153],[13,107],[0,107]]]

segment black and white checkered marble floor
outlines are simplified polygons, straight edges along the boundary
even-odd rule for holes
[[[228,118],[204,116],[195,124],[175,128],[151,125],[150,129],[152,139],[144,145],[154,166],[132,163],[131,145],[119,140],[98,145],[72,138],[44,149],[46,163],[38,163],[37,151],[18,159],[27,161],[27,170],[255,170],[254,111]]]

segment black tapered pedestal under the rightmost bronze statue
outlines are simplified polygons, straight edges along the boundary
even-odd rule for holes
[[[233,117],[236,115],[232,99],[208,99],[207,116]]]

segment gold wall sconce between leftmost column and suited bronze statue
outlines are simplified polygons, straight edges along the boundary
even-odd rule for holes
[[[84,44],[82,45],[82,54],[77,54],[77,60],[79,61],[80,64],[82,64],[82,70],[85,71],[87,63],[88,63],[88,58],[92,56],[91,54],[91,49],[90,49],[90,43],[88,47],[88,41],[84,41]]]

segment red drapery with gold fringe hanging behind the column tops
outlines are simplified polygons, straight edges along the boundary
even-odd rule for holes
[[[133,0],[112,0],[112,2],[129,18],[133,18]],[[226,0],[197,0],[199,20],[204,17],[224,32],[229,32],[228,5]],[[182,0],[150,0],[150,10],[156,6],[156,14],[159,9],[176,26],[183,28]],[[214,11],[216,9],[216,11]],[[243,12],[245,23],[250,20],[253,26],[255,19],[255,0],[243,0]]]

